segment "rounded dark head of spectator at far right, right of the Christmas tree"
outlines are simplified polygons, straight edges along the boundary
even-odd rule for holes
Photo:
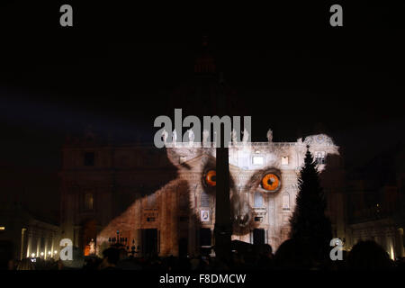
[[[360,241],[347,257],[349,269],[390,269],[392,260],[388,253],[374,241]]]

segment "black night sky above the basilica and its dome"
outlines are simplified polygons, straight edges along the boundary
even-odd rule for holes
[[[59,3],[0,4],[2,194],[33,210],[58,210],[67,135],[92,125],[151,142],[155,117],[187,109],[172,97],[204,35],[253,140],[324,130],[352,166],[403,140],[404,4],[342,4],[332,28],[328,4],[70,3],[73,28],[58,25]]]

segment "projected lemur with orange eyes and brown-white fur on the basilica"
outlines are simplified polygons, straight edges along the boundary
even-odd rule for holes
[[[277,248],[288,238],[298,189],[297,173],[309,144],[320,172],[329,166],[331,170],[341,169],[336,161],[327,163],[328,157],[338,157],[338,147],[324,134],[296,142],[273,142],[272,138],[267,142],[237,142],[229,148],[232,239],[268,243]],[[204,247],[211,247],[215,222],[215,148],[204,148],[202,143],[167,146],[167,158],[177,168],[176,178],[139,197],[109,222],[97,235],[99,247],[105,246],[117,229],[122,238],[135,239],[140,246],[148,243],[150,249],[156,249],[148,253],[178,256],[180,252],[198,254]],[[132,151],[133,148],[122,148],[121,153]],[[334,199],[333,191],[328,196],[339,201]],[[332,216],[334,226],[342,229],[343,220],[338,215]],[[156,235],[148,234],[153,230]]]

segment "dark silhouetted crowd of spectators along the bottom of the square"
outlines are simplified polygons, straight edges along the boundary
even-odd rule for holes
[[[220,261],[209,255],[192,257],[133,257],[120,247],[109,247],[103,257],[84,257],[74,247],[73,260],[55,261],[41,258],[24,258],[9,261],[9,270],[152,270],[152,271],[200,271],[200,270],[356,270],[390,269],[405,270],[405,259],[392,261],[388,253],[374,241],[361,241],[349,252],[342,251],[342,260],[319,262],[308,255],[305,247],[288,239],[275,254],[269,245],[247,251],[232,251],[228,261]]]

